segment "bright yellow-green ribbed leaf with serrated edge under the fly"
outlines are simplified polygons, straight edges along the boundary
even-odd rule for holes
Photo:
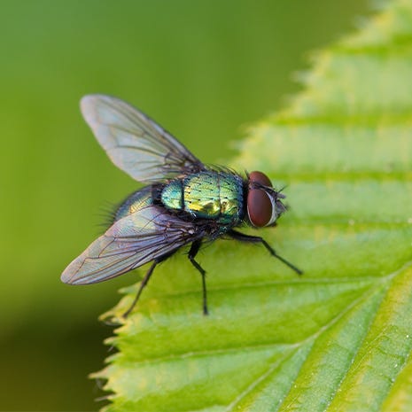
[[[107,410],[412,410],[412,2],[318,53],[234,163],[287,185],[259,233],[305,274],[217,241],[203,316],[198,272],[167,260],[111,339]]]

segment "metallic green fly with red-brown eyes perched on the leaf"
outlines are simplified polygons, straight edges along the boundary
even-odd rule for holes
[[[205,241],[230,237],[261,243],[298,274],[261,237],[234,228],[275,225],[284,213],[284,195],[267,175],[245,177],[224,167],[208,167],[175,137],[131,105],[115,97],[82,98],[82,114],[113,163],[136,181],[146,183],[114,214],[112,226],[65,269],[66,284],[94,284],[152,262],[128,315],[154,268],[184,245],[202,276],[203,312],[207,315],[206,271],[195,260]]]

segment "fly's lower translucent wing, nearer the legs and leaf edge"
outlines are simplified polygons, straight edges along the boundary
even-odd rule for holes
[[[190,222],[157,206],[144,207],[115,222],[61,275],[66,284],[95,284],[173,253],[200,237]]]

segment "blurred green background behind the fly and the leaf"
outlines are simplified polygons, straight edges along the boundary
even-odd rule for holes
[[[366,0],[2,2],[0,410],[100,408],[87,375],[111,328],[97,316],[136,282],[59,281],[137,187],[91,135],[80,97],[126,99],[216,163],[242,125],[299,89],[307,51],[368,13]]]

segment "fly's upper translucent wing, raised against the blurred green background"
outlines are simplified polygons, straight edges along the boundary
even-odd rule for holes
[[[85,96],[81,109],[109,158],[138,182],[154,183],[206,168],[175,137],[118,98]]]

